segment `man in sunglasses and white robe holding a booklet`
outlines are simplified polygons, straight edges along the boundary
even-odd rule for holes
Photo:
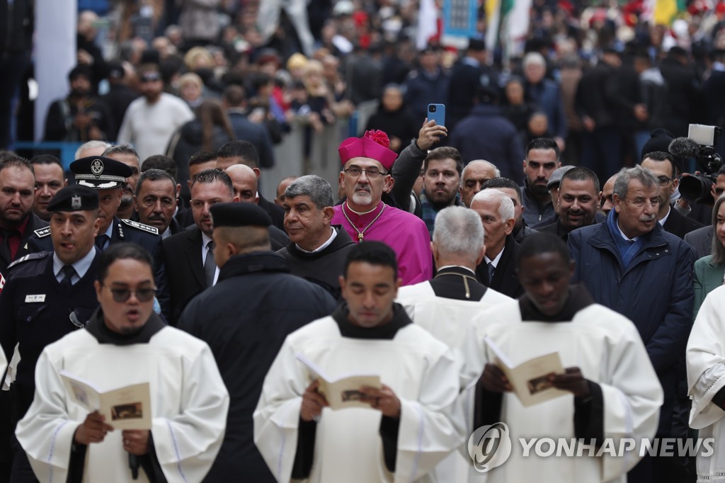
[[[43,350],[16,435],[41,482],[201,482],[222,444],[229,397],[206,343],[153,312],[151,256],[117,244],[99,262],[101,307]],[[114,430],[66,392],[60,372],[101,390],[149,383],[152,429]],[[145,408],[144,408],[145,409]],[[143,410],[143,409],[142,409]]]

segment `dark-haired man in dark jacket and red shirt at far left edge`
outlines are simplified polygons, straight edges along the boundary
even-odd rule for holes
[[[10,152],[0,154],[0,273],[6,276],[7,265],[32,251],[28,239],[33,231],[48,226],[33,213],[35,184],[28,160]]]

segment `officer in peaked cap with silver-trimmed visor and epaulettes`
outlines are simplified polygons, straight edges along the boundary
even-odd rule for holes
[[[161,236],[154,226],[144,225],[133,220],[121,220],[116,216],[121,203],[122,187],[126,178],[133,175],[133,170],[123,162],[103,156],[88,156],[75,160],[70,164],[75,173],[75,183],[95,189],[99,196],[99,234],[96,236],[96,247],[101,250],[109,245],[123,241],[133,241],[144,247],[154,258],[154,278],[157,285],[157,299],[162,313],[167,316],[169,294],[164,273],[164,257]],[[48,229],[36,230],[30,238],[29,245],[33,251],[49,251],[52,249],[48,239]]]

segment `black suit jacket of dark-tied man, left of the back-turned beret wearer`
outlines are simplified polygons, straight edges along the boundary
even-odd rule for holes
[[[163,242],[164,264],[171,299],[171,320],[175,326],[184,307],[207,288],[202,263],[202,231],[198,226],[169,236]]]

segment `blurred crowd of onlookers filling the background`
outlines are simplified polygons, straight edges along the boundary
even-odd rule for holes
[[[33,1],[11,3],[17,22],[0,28],[10,29],[0,32],[6,34],[0,35],[0,50],[9,54],[4,66],[25,59],[17,65],[26,67],[20,71],[28,78]],[[486,116],[513,125],[521,150],[531,139],[550,136],[566,164],[604,164],[595,169],[600,177],[636,162],[654,128],[686,136],[689,123],[723,124],[725,4],[690,1],[672,25],[650,25],[639,0],[534,1],[529,36],[514,58],[508,57],[510,48],[475,39],[468,51],[445,46],[441,36],[416,49],[418,7],[417,1],[314,0],[299,12],[277,2],[260,9],[257,1],[80,1],[78,65],[68,74],[67,98],[46,115],[44,139],[117,141],[128,104],[143,93],[138,70],[149,64],[157,65],[163,90],[195,113],[189,125],[176,128],[174,141],[155,140],[151,154],[170,156],[180,140],[216,149],[233,139],[225,122],[230,108],[262,125],[273,144],[302,125],[310,154],[310,140],[326,125],[379,101],[358,129],[388,132],[399,152],[418,132],[428,103],[450,103],[450,139],[476,96],[456,76],[456,66],[469,58],[490,66],[490,102],[498,107]],[[484,10],[481,4],[481,38]],[[484,49],[482,57],[471,49]],[[3,104],[17,114],[17,139],[31,139],[28,89],[20,78],[9,79],[18,75],[0,75],[21,87],[17,98]],[[241,88],[233,96],[237,104],[211,115],[229,86]],[[12,91],[2,95],[12,97]],[[464,111],[456,112],[460,97]],[[0,131],[5,126],[7,120]],[[3,133],[0,148],[10,146],[10,139]],[[464,161],[470,160],[464,152]]]

